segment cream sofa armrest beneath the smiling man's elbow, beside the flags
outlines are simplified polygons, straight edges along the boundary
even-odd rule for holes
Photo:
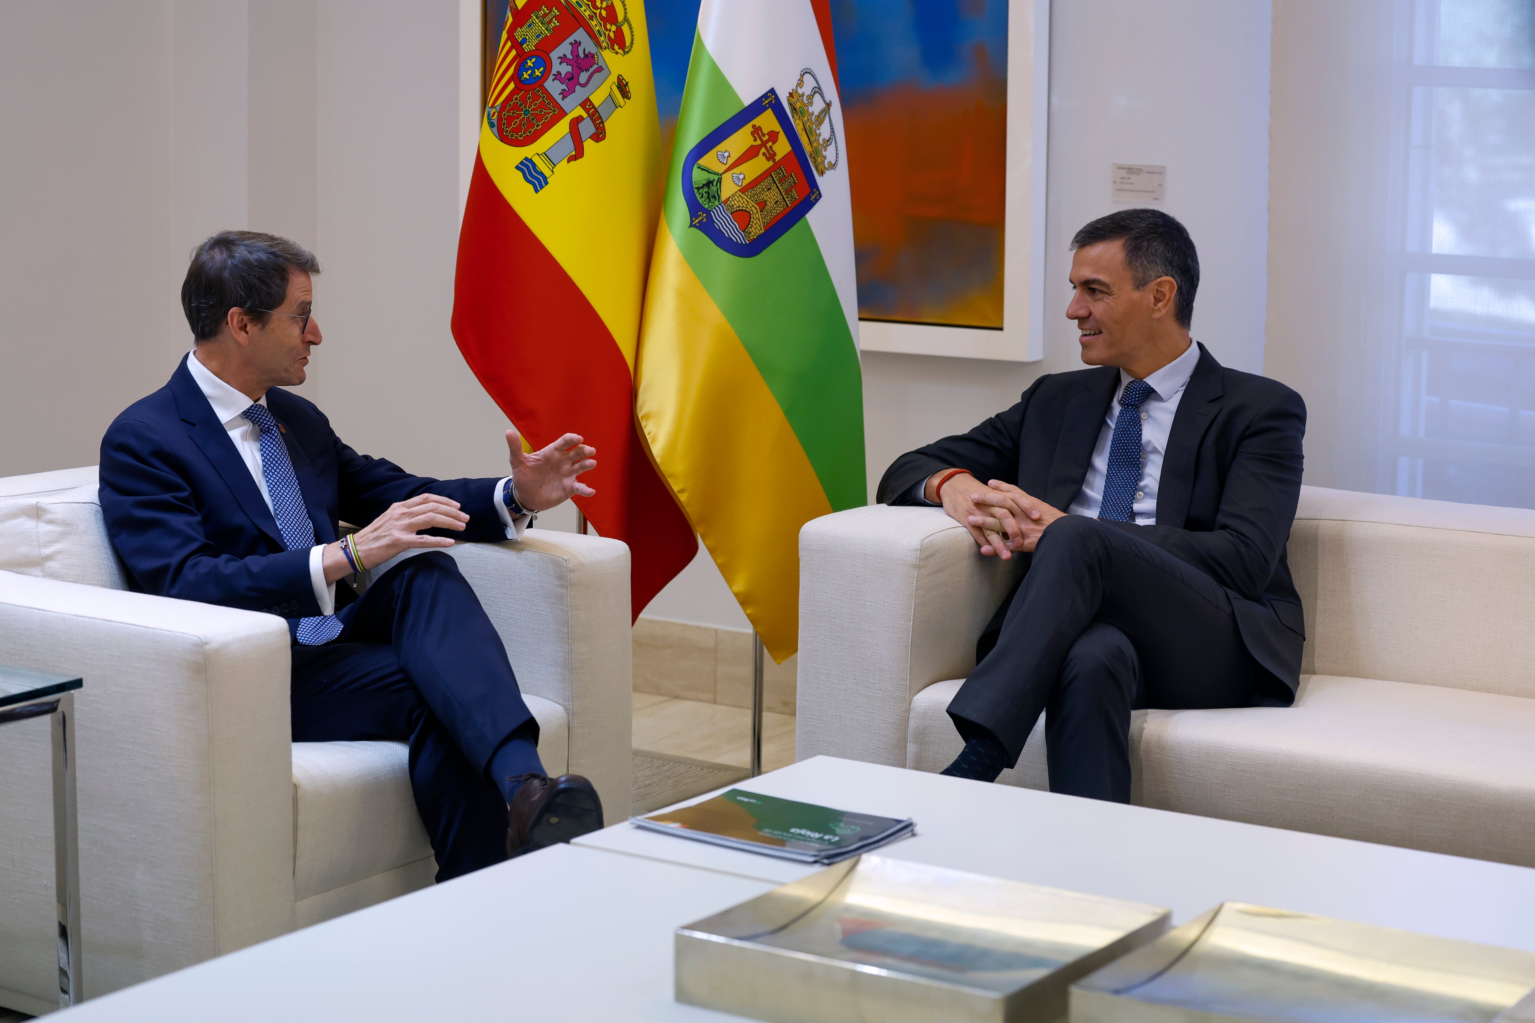
[[[872,505],[806,523],[795,758],[906,767],[912,698],[970,673],[1021,566],[982,557],[936,508]]]

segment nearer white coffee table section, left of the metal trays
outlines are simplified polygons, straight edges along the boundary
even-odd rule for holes
[[[559,845],[92,998],[61,1018],[732,1020],[672,1000],[672,931],[772,888]]]

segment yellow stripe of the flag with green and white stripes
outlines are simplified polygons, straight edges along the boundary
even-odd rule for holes
[[[800,525],[829,515],[830,502],[665,224],[655,233],[645,321],[640,426],[741,610],[781,663],[798,646]]]

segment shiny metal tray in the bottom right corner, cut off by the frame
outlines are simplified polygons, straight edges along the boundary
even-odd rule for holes
[[[1071,988],[1071,1023],[1535,1023],[1535,956],[1223,902]]]

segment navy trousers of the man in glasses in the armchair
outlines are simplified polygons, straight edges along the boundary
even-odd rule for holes
[[[405,558],[341,618],[332,643],[293,647],[293,741],[408,742],[437,880],[507,859],[507,804],[487,767],[513,732],[537,739],[537,721],[457,564],[441,551]]]

